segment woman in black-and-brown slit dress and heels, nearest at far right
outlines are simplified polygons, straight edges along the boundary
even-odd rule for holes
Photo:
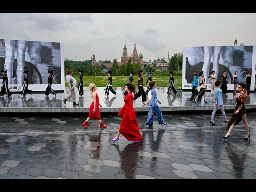
[[[246,136],[244,140],[248,140],[248,138],[250,139],[249,125],[246,119],[246,109],[244,106],[244,103],[247,99],[247,90],[245,88],[246,84],[243,82],[238,83],[237,89],[239,93],[236,98],[236,107],[226,127],[226,131],[228,132],[226,136],[223,137],[224,139],[230,138],[230,132],[232,131],[233,127],[236,126],[240,121],[243,121],[246,130]],[[245,90],[243,91],[243,89]]]

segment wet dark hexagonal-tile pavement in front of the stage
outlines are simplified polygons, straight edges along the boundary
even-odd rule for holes
[[[107,128],[82,116],[0,117],[0,178],[256,178],[256,113],[247,112],[250,141],[240,122],[225,140],[220,110],[164,113],[168,123],[146,126],[136,114],[139,144],[120,136],[122,118],[102,115]],[[230,119],[232,112],[226,112]]]

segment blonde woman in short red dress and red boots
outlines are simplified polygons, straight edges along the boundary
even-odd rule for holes
[[[104,128],[106,127],[106,125],[103,124],[103,122],[100,119],[100,107],[102,107],[102,105],[99,103],[99,96],[98,94],[95,93],[95,91],[97,90],[95,84],[91,83],[89,85],[89,89],[92,91],[92,98],[93,98],[93,102],[89,108],[89,116],[86,119],[86,121],[82,124],[85,128],[88,128],[88,126],[86,126],[86,124],[88,123],[88,121],[90,119],[96,119],[99,121],[100,123],[100,128]]]

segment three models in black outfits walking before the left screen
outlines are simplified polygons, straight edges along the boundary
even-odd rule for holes
[[[0,91],[0,96],[3,96],[5,93],[7,94],[8,97],[10,97],[12,94],[8,88],[8,76],[7,76],[7,70],[5,70],[4,68],[1,69],[1,72],[3,74],[3,81],[2,81],[2,89]],[[52,70],[48,70],[48,73],[49,73],[49,77],[48,77],[48,85],[46,87],[46,91],[45,91],[45,96],[48,97],[49,96],[49,93],[52,92],[52,94],[56,95],[56,92],[52,89],[52,81],[54,80],[53,78],[53,72]],[[27,69],[24,69],[23,70],[23,74],[24,74],[24,81],[22,83],[22,96],[26,96],[26,93],[28,92],[30,95],[33,94],[33,91],[32,90],[29,90],[28,89],[28,75],[29,75],[29,70]]]

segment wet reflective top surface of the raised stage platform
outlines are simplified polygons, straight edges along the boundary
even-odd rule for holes
[[[99,102],[102,104],[103,108],[111,107],[111,108],[122,108],[124,105],[124,88],[122,87],[113,87],[113,89],[117,92],[116,95],[110,92],[109,96],[104,95],[104,88],[100,87],[96,91],[99,95]],[[167,87],[156,87],[155,88],[158,100],[161,101],[160,107],[173,107],[173,106],[213,106],[214,105],[214,96],[210,92],[206,92],[206,101],[204,103],[204,99],[202,102],[198,102],[194,104],[190,101],[191,91],[188,90],[178,90],[177,94],[174,95],[171,92],[170,96],[167,96]],[[34,93],[32,95],[27,95],[26,97],[22,97],[20,94],[12,94],[10,97],[1,96],[0,97],[0,107],[8,107],[8,108],[74,108],[73,100],[69,99],[66,103],[62,101],[64,97],[68,94],[68,89],[65,89],[64,93],[58,93],[56,96],[50,94],[50,97],[45,97],[44,93]],[[246,104],[255,105],[256,94],[251,93],[248,95],[246,100]],[[233,95],[232,92],[223,95],[224,105],[236,105],[236,97],[237,95]],[[151,94],[148,93],[147,96],[147,105],[143,105],[141,102],[141,97],[138,98],[134,102],[134,107],[138,108],[148,108],[151,100]],[[76,102],[79,104],[78,108],[90,108],[92,103],[91,91],[89,88],[84,88],[84,96],[79,96],[78,90],[76,90]]]

